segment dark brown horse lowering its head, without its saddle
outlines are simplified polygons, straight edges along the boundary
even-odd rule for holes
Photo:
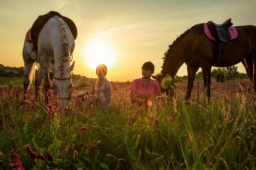
[[[154,76],[161,82],[167,75],[174,79],[178,69],[183,63],[187,65],[188,84],[186,91],[186,100],[190,99],[193,89],[195,75],[198,68],[202,68],[204,86],[207,87],[207,96],[211,97],[211,68],[214,67],[230,67],[240,62],[246,68],[247,75],[255,84],[256,81],[256,26],[246,25],[235,27],[238,33],[236,39],[230,40],[222,44],[222,54],[217,59],[214,58],[216,42],[207,38],[204,34],[204,24],[197,24],[181,34],[169,46],[165,53],[164,63],[161,75]],[[168,85],[167,89],[162,92],[168,92],[171,86],[175,86],[173,81]]]

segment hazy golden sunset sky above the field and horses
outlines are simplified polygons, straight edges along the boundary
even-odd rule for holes
[[[23,66],[25,34],[49,11],[77,26],[74,74],[97,78],[95,66],[103,63],[110,81],[140,78],[147,61],[160,72],[168,46],[195,24],[232,18],[234,26],[256,25],[256,0],[1,0],[0,64]],[[177,75],[187,75],[185,64]]]

